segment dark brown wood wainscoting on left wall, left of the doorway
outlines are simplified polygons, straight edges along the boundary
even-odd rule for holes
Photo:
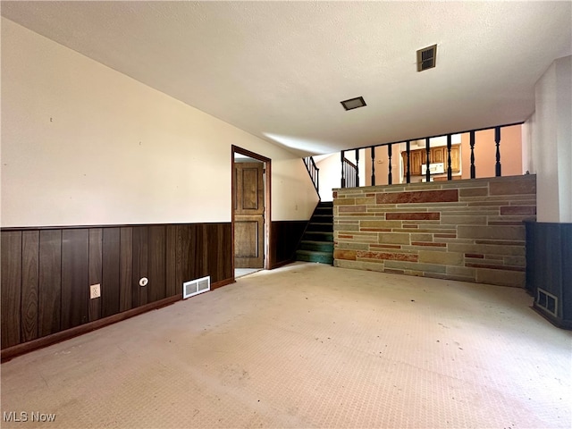
[[[234,278],[231,223],[10,228],[1,243],[3,357],[13,346],[182,296],[182,282],[210,275],[214,288]],[[96,283],[101,297],[89,299]]]

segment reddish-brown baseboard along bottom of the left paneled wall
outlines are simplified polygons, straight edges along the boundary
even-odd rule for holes
[[[233,278],[225,279],[221,282],[214,282],[211,284],[211,290],[223,287],[227,284],[235,282]],[[92,332],[97,329],[103,328],[110,324],[116,324],[117,322],[122,322],[123,320],[129,319],[136,315],[142,315],[151,310],[156,310],[158,308],[167,307],[174,304],[177,301],[182,300],[181,295],[175,295],[170,298],[161,299],[155,302],[146,304],[145,306],[131,308],[130,310],[123,311],[122,313],[117,313],[116,315],[110,315],[103,319],[94,320],[93,322],[88,322],[87,324],[80,324],[79,326],[74,326],[71,329],[66,329],[62,332],[55,332],[51,335],[46,335],[46,337],[38,338],[37,340],[32,340],[28,342],[22,342],[13,347],[0,351],[0,361],[2,363],[7,362],[14,357],[21,356],[23,354],[29,353],[30,351],[43,349],[47,346],[51,346],[58,342],[70,340],[73,337],[80,336],[84,333]]]

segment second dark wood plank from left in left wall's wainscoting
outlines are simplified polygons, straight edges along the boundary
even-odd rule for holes
[[[39,231],[21,236],[21,341],[38,338]]]

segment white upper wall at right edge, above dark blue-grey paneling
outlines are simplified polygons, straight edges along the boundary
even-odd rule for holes
[[[536,173],[538,222],[572,222],[572,57],[551,64],[535,85],[535,111],[527,121],[527,160]]]

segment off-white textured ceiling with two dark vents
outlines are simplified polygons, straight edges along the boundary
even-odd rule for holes
[[[524,121],[571,2],[2,2],[2,14],[300,155]],[[437,44],[437,67],[416,50]],[[344,111],[340,101],[367,106]]]

